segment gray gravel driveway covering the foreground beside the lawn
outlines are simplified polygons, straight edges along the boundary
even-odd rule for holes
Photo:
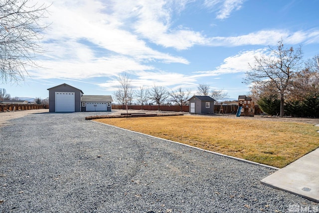
[[[96,114],[33,113],[0,126],[0,212],[258,213],[316,206],[262,185],[271,168],[85,120]]]

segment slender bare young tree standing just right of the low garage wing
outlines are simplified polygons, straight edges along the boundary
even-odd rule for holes
[[[115,93],[115,98],[126,106],[126,112],[128,113],[128,104],[131,103],[133,99],[133,91],[129,74],[126,72],[121,74],[118,77],[118,81],[120,86]]]

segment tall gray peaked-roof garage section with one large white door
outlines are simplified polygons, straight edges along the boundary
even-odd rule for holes
[[[82,90],[66,83],[49,90],[49,112],[80,112]]]

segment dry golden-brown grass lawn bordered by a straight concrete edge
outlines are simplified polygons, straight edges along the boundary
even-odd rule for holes
[[[319,127],[297,122],[187,115],[95,121],[279,168],[319,147]]]

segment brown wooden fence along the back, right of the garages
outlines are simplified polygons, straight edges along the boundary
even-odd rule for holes
[[[236,114],[238,105],[223,105],[223,113],[225,114]],[[126,109],[125,105],[112,105],[112,109]],[[128,109],[132,110],[141,110],[141,105],[128,105]],[[158,110],[158,105],[144,105],[143,110]],[[161,111],[173,111],[173,112],[180,112],[180,106],[169,106],[169,105],[160,105]],[[183,112],[189,112],[189,106],[182,107]],[[214,112],[219,113],[220,105],[214,105]],[[255,115],[260,115],[262,113],[259,106],[255,105]]]

